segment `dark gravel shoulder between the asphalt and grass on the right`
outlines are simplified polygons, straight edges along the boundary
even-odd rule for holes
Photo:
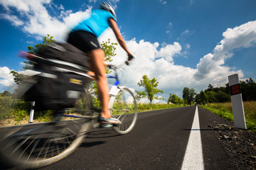
[[[215,130],[221,145],[238,169],[256,170],[256,132],[234,128],[233,123],[203,108],[209,128]]]

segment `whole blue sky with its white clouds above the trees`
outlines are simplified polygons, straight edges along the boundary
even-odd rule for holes
[[[225,86],[228,76],[256,80],[255,0],[110,0],[117,25],[136,59],[121,82],[133,91],[146,74],[159,81],[159,96],[182,97],[184,87],[199,93]],[[0,0],[0,92],[12,91],[9,72],[22,72],[21,50],[50,34],[65,42],[73,26],[98,8],[97,0]],[[117,42],[108,29],[100,42]],[[118,45],[114,64],[127,55]],[[161,102],[161,101],[154,101]]]

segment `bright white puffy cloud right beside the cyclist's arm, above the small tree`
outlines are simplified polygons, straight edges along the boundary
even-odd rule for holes
[[[107,30],[100,41],[110,38],[116,42],[112,30]],[[137,82],[143,75],[148,75],[149,79],[154,77],[159,81],[159,89],[163,89],[168,96],[174,91],[182,91],[181,87],[187,86],[188,81],[193,80],[194,69],[174,64],[174,55],[181,53],[181,45],[178,42],[173,44],[159,45],[159,42],[148,42],[146,40],[128,40],[127,47],[135,55],[133,64],[126,67],[125,74],[122,74],[121,82],[133,89],[142,90],[137,86]],[[114,64],[121,64],[127,60],[127,55],[121,47],[117,47],[117,56],[114,57]],[[146,99],[145,99],[146,100]]]

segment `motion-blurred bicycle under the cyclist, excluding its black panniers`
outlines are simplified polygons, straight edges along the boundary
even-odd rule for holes
[[[36,55],[29,56],[38,57]],[[38,60],[70,65],[68,62],[46,60],[41,57],[38,57]],[[74,66],[80,69],[80,72],[75,71],[76,74],[93,78],[87,74],[87,68],[80,65]],[[114,76],[107,77],[115,79],[109,93],[109,108],[112,116],[122,121],[121,125],[113,128],[118,134],[127,134],[134,128],[137,121],[137,102],[132,91],[119,83],[117,70],[121,67],[115,65],[108,67],[114,70]],[[68,72],[74,71],[69,70]],[[77,98],[75,106],[65,108],[63,117],[71,120],[53,120],[48,123],[0,128],[0,159],[8,166],[31,169],[47,166],[67,157],[80,146],[91,127],[99,127],[97,118],[100,113],[96,111],[97,109],[92,109],[91,101],[87,89],[84,89],[80,98]]]

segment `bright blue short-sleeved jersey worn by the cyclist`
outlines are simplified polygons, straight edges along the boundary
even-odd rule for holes
[[[99,37],[107,28],[110,27],[110,23],[108,22],[109,18],[113,18],[114,21],[116,21],[109,11],[102,9],[92,10],[90,18],[78,23],[72,31],[86,30],[87,32],[96,35],[96,37]]]

